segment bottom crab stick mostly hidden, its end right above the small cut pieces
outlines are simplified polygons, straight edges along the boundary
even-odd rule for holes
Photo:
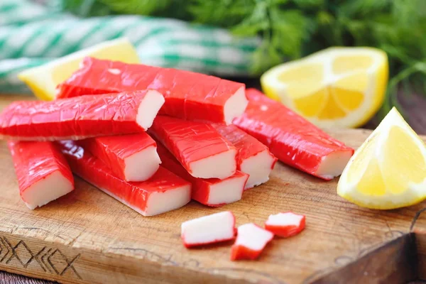
[[[194,178],[161,143],[157,143],[157,152],[164,168],[192,183],[193,200],[212,207],[219,207],[241,200],[244,185],[246,185],[249,175],[237,170],[234,175],[224,180],[219,180],[218,178]]]

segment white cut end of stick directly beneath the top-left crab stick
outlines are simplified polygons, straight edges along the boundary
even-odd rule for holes
[[[155,146],[143,149],[124,159],[126,180],[148,180],[160,167],[160,157]]]

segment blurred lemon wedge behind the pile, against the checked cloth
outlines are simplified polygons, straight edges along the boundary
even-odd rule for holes
[[[39,99],[52,100],[55,99],[56,86],[67,80],[86,56],[126,63],[139,62],[138,54],[129,40],[119,38],[79,50],[45,65],[24,70],[18,74],[18,78],[25,82]]]

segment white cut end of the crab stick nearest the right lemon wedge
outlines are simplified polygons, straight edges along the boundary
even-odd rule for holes
[[[315,175],[324,178],[325,180],[332,180],[333,178],[342,175],[344,167],[346,167],[351,156],[351,151],[336,151],[322,157]]]

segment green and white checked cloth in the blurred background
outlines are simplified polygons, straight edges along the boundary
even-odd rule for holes
[[[0,92],[29,93],[16,74],[104,40],[127,37],[146,65],[249,75],[259,38],[143,16],[77,18],[27,0],[0,0]]]

